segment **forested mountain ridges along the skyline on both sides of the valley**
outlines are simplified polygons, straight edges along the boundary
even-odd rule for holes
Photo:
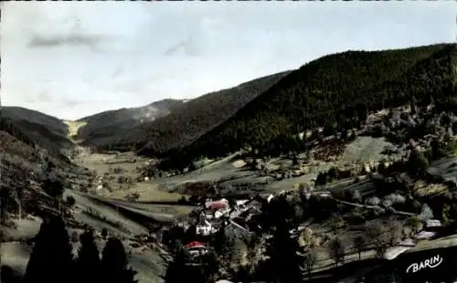
[[[175,157],[172,160],[183,165],[246,146],[281,147],[292,135],[318,126],[350,128],[363,112],[410,100],[452,102],[455,47],[435,44],[327,55],[186,103],[163,100],[104,111],[80,119],[83,126],[74,139],[99,151],[133,149],[146,156]],[[48,148],[71,146],[63,121],[37,120],[20,108],[9,108],[4,115],[5,109],[2,117]],[[42,131],[35,131],[38,128]]]

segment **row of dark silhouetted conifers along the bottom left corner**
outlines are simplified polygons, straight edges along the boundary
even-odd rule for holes
[[[3,283],[41,282],[138,282],[136,272],[128,265],[122,241],[110,237],[101,251],[95,243],[94,231],[87,228],[80,235],[77,257],[73,256],[65,222],[52,216],[40,226],[27,263],[25,274],[15,274],[11,267],[3,266]]]

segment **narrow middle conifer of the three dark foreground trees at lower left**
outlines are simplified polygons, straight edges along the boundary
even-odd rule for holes
[[[76,267],[80,282],[100,282],[100,252],[95,244],[92,230],[87,230],[80,236],[80,249],[78,250]]]

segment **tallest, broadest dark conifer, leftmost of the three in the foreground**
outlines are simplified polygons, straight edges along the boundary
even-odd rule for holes
[[[69,234],[62,218],[45,221],[35,237],[23,281],[26,283],[72,282],[74,261]],[[69,276],[66,278],[65,276]]]

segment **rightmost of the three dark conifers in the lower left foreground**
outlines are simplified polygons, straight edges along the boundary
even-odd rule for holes
[[[103,248],[101,257],[101,272],[103,282],[136,283],[136,272],[127,267],[128,260],[121,240],[111,237]]]

